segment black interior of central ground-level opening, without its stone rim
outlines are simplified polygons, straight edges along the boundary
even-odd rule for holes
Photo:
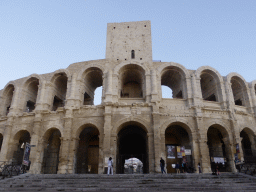
[[[118,133],[116,173],[127,173],[125,163],[130,158],[139,159],[143,173],[149,172],[147,133],[140,125],[132,122],[123,126]]]

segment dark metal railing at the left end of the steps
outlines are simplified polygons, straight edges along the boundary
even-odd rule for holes
[[[26,169],[23,165],[18,165],[14,162],[0,161],[0,176],[2,176],[2,179],[5,177],[16,176],[25,172]]]

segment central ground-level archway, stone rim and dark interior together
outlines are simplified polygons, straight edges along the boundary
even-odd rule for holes
[[[143,164],[143,173],[149,173],[149,132],[142,121],[119,121],[112,129],[116,150],[116,173],[127,173],[125,159],[137,158]],[[151,149],[152,150],[152,149]]]

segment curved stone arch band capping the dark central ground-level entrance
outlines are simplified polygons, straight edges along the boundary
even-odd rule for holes
[[[137,117],[128,117],[128,118],[124,118],[124,119],[117,121],[114,124],[114,126],[112,127],[111,134],[117,135],[118,132],[123,128],[123,126],[126,126],[129,123],[134,123],[134,124],[142,127],[144,129],[144,131],[146,131],[147,133],[153,132],[150,122],[142,120]]]

